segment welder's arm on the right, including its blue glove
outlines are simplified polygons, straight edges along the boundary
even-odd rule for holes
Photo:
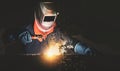
[[[87,43],[73,39],[59,30],[49,35],[47,40],[48,43],[51,42],[51,40],[60,43],[60,51],[65,54],[95,55],[95,50],[87,46]]]

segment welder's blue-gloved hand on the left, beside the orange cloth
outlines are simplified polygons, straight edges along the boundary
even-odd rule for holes
[[[32,42],[32,37],[30,35],[30,33],[28,31],[24,31],[23,33],[21,33],[19,35],[19,39],[24,43],[24,44],[27,44],[27,43],[30,43]]]

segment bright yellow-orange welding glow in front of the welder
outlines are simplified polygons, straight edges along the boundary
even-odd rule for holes
[[[64,49],[61,49],[61,46],[64,44],[65,42],[62,40],[58,40],[57,42],[50,40],[46,44],[46,49],[43,51],[42,56],[40,56],[42,63],[47,66],[54,66],[61,62],[65,52]]]

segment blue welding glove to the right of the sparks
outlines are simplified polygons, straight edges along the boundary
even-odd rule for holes
[[[74,52],[78,55],[88,55],[88,56],[94,55],[94,50],[92,48],[89,48],[85,44],[82,44],[80,42],[75,44]]]

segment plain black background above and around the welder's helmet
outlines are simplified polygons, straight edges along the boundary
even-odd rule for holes
[[[39,0],[1,1],[0,27],[21,27],[33,23],[33,9],[37,2]],[[82,34],[96,43],[119,46],[119,2],[111,0],[56,0],[55,2],[60,12],[57,18],[58,25],[68,33]]]

